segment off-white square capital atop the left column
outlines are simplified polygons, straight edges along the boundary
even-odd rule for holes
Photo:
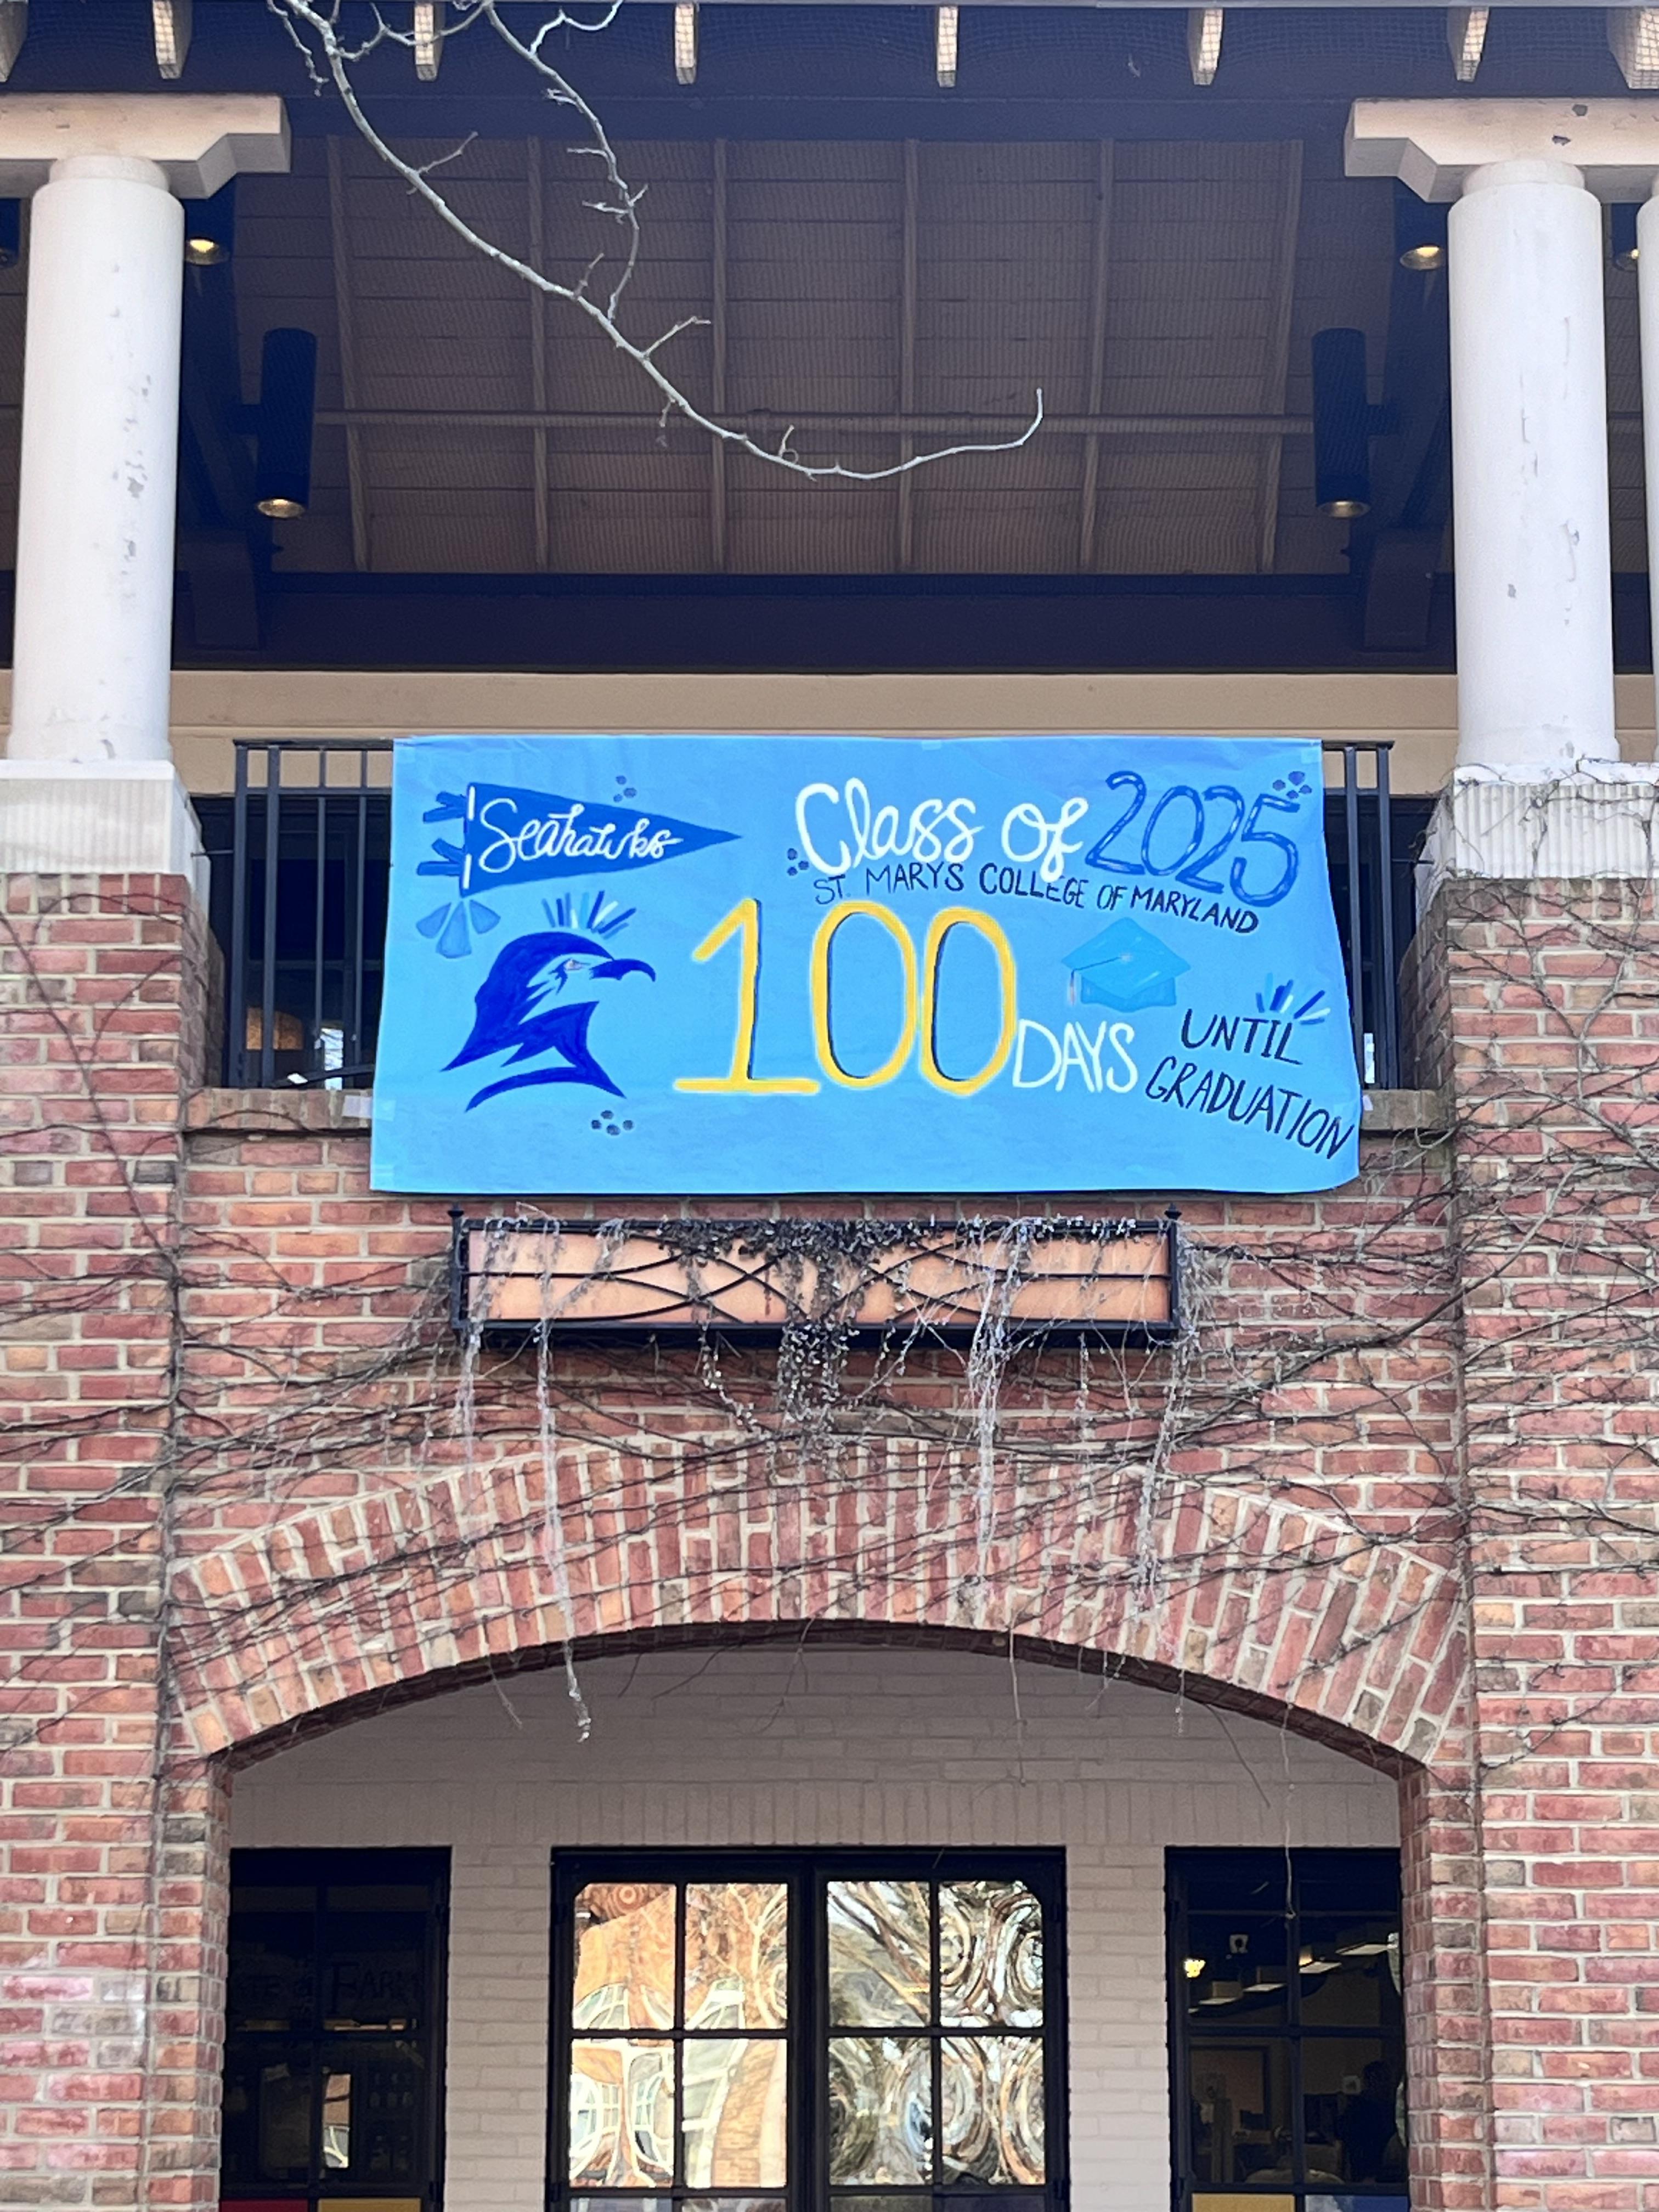
[[[288,170],[288,108],[270,93],[7,93],[0,199],[35,192],[55,161],[153,161],[179,199],[212,199],[239,175]]]

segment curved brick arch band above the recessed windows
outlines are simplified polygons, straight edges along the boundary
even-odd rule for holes
[[[648,1500],[597,1506],[611,1493],[571,1478],[562,1467],[557,1540],[529,1460],[487,1482],[434,1473],[195,1555],[170,1606],[181,1761],[261,1756],[476,1672],[544,1663],[566,1637],[604,1650],[856,1632],[1121,1672],[1396,1772],[1460,1763],[1462,1615],[1429,1544],[1186,1484],[1137,1577],[1133,1531],[1055,1511],[1018,1557],[998,1551],[987,1617],[978,1544],[940,1531],[920,1544],[916,1486],[889,1484],[885,1520],[832,1542],[825,1522],[847,1500],[710,1489],[653,1520]]]

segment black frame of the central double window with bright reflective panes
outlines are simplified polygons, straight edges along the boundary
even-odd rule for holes
[[[922,2188],[863,2185],[843,2188],[841,2197],[865,2201],[931,2199],[936,2212],[958,2205],[962,2212],[1068,2212],[1071,2205],[1071,2101],[1066,2075],[1066,1854],[1060,1849],[582,1849],[553,1854],[553,1931],[549,1989],[549,2097],[546,2097],[546,2212],[571,2212],[577,2199],[613,2201],[617,2208],[650,2199],[664,2212],[681,2212],[686,2203],[717,2199],[763,2201],[776,2212],[832,2212],[830,2132],[825,2124],[827,2042],[830,2042],[830,1975],[827,1918],[823,1909],[830,1880],[1020,1880],[1042,1907],[1042,2106],[1044,2166],[1042,2188],[993,2188],[987,2183],[929,2183]],[[575,2188],[568,2177],[568,2106],[571,2046],[577,2042],[571,2024],[575,1991],[575,1898],[588,1882],[787,1882],[790,1885],[790,1973],[787,2004],[787,2181],[779,2192],[706,2190],[677,2179],[672,2190],[595,2190]],[[805,1907],[805,1920],[803,1920]],[[684,1911],[684,1902],[679,1907]],[[803,1933],[805,1929],[805,1933]],[[938,1929],[933,1933],[933,1984],[938,1984]],[[677,1997],[679,2006],[679,1997]],[[644,2031],[635,2031],[644,2033]],[[714,2031],[710,2031],[714,2033]],[[732,2031],[726,2031],[728,2035]],[[878,2031],[872,2031],[878,2033]],[[951,2031],[929,2026],[938,2042]],[[938,2090],[938,2064],[936,2064]],[[675,2115],[675,2172],[684,2177],[684,2128]],[[938,2106],[936,2106],[938,2132]],[[938,2143],[936,2143],[938,2159]]]

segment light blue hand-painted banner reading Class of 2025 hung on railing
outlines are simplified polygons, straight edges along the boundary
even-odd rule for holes
[[[1327,1190],[1301,739],[400,743],[374,1188]]]

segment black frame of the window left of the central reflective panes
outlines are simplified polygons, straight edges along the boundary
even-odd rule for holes
[[[422,2048],[427,2053],[427,2112],[422,2115],[425,2135],[425,2159],[427,2179],[416,2188],[407,2190],[394,2183],[367,2183],[352,2181],[338,2172],[327,2174],[321,2168],[321,2130],[323,2130],[323,2099],[321,2090],[314,2093],[314,2152],[312,2152],[312,2174],[307,2181],[228,2181],[221,2172],[219,2177],[219,2203],[292,2203],[314,2212],[319,2199],[361,2203],[363,2212],[374,2212],[387,2199],[418,2197],[425,2212],[442,2212],[445,2197],[445,2044],[447,2044],[447,2022],[449,2022],[449,1878],[451,1878],[451,1854],[447,1847],[411,1847],[400,1849],[396,1845],[387,1847],[365,1847],[365,1849],[234,1849],[230,1854],[230,1913],[226,1931],[226,1982],[230,1978],[230,1951],[234,1944],[234,1898],[239,1887],[312,1887],[319,1900],[325,1898],[327,1889],[374,1889],[398,1882],[420,1882],[431,1887],[434,1905],[429,1911],[431,1938],[427,1951],[427,1989],[425,2006],[427,2020],[420,2033]],[[323,1922],[330,1913],[325,1902],[319,1902],[314,1913],[314,1958],[321,1964],[323,1958]],[[319,2006],[321,2006],[321,1975],[316,1980]],[[230,2028],[226,2022],[226,2068],[234,2055],[239,2042],[248,2044],[270,2044],[276,2048],[279,2037],[274,2033],[246,2031],[246,2037]],[[321,2024],[321,2013],[314,2017],[312,2026],[303,2035],[294,2035],[294,2046],[305,2046],[310,2051],[310,2064],[314,2079],[321,2077],[321,2048],[327,2042],[327,2031]]]

